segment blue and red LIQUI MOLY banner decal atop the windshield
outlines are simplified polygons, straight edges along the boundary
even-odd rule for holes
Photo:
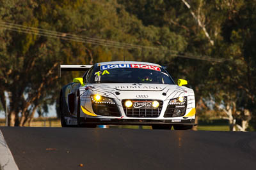
[[[161,71],[160,67],[151,66],[147,64],[108,64],[108,65],[100,66],[100,70],[116,69],[116,68],[139,68],[139,69],[152,69],[155,71]]]

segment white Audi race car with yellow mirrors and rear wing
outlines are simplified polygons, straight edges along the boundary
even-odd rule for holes
[[[115,61],[61,65],[60,71],[84,71],[60,91],[62,127],[151,125],[152,129],[192,129],[195,94],[177,85],[159,64]]]

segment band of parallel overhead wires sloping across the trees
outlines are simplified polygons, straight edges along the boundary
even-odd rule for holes
[[[113,48],[122,48],[122,49],[138,49],[138,50],[157,50],[157,51],[164,51],[164,52],[170,52],[170,55],[175,57],[183,57],[188,59],[198,59],[198,60],[207,60],[212,62],[223,62],[225,59],[220,58],[214,58],[211,56],[195,56],[191,54],[182,55],[179,52],[175,50],[168,50],[162,48],[156,47],[156,46],[142,46],[142,45],[134,45],[130,43],[120,43],[118,41],[112,41],[108,39],[100,39],[100,38],[89,38],[87,36],[77,36],[76,34],[70,34],[66,32],[58,32],[58,31],[51,31],[47,29],[41,29],[36,27],[29,27],[25,25],[20,24],[13,24],[10,22],[3,22],[0,21],[0,27],[3,27],[4,29],[8,29],[10,31],[16,31],[16,32],[22,32],[26,34],[35,34],[37,36],[45,36],[49,38],[60,38],[66,41],[75,41],[78,43],[88,43],[92,45],[100,45],[100,46],[109,46]]]

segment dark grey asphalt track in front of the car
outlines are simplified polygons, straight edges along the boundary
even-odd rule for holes
[[[256,132],[45,127],[0,130],[20,170],[256,169]]]

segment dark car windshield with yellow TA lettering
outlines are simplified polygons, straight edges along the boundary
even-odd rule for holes
[[[116,64],[121,65],[122,64]],[[125,64],[123,64],[124,66]],[[127,64],[128,65],[128,64]],[[132,64],[131,64],[132,65]],[[135,64],[134,64],[135,65]],[[109,65],[108,65],[109,66]],[[174,84],[162,67],[145,68],[99,66],[89,78],[89,83],[157,83]]]

